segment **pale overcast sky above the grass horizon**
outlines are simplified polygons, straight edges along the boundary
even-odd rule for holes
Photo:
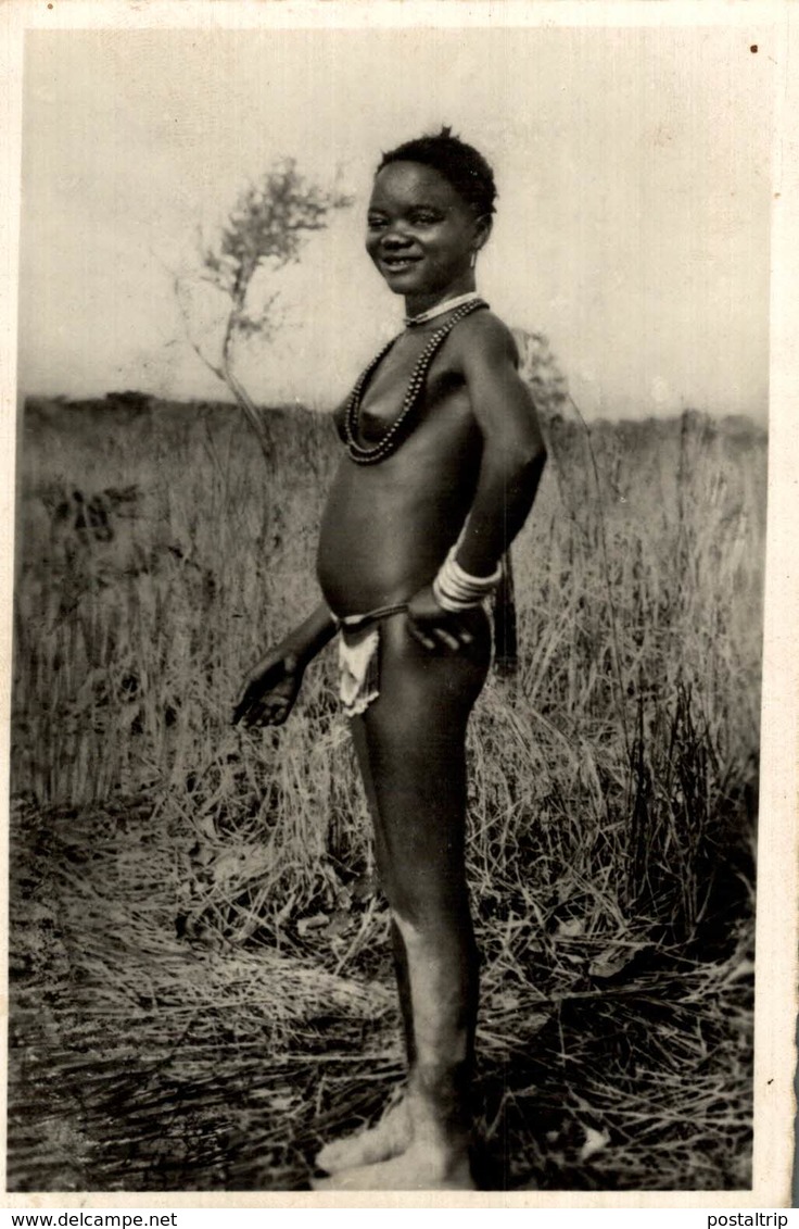
[[[198,225],[291,155],[356,199],[281,278],[282,327],[242,370],[259,399],[330,406],[401,317],[362,249],[374,163],[446,123],[497,177],[479,288],[549,337],[587,415],[762,419],[772,37],[29,33],[20,385],[223,396],[183,339],[168,270],[189,270]],[[195,307],[204,327],[215,305]]]

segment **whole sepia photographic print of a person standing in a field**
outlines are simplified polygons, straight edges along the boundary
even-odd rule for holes
[[[10,1192],[751,1191],[773,43],[26,32]]]

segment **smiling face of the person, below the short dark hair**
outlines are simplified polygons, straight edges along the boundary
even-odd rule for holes
[[[374,178],[366,249],[394,294],[436,302],[474,288],[471,254],[488,226],[438,171],[389,162]]]

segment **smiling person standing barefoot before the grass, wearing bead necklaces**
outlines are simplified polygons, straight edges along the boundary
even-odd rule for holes
[[[345,455],[319,540],[324,601],[253,671],[234,715],[285,721],[306,666],[340,634],[409,1077],[377,1127],[323,1148],[331,1176],[317,1188],[474,1188],[466,723],[491,655],[485,599],[545,461],[511,332],[475,290],[495,197],[485,159],[448,129],[383,156],[366,248],[406,327],[335,415]]]

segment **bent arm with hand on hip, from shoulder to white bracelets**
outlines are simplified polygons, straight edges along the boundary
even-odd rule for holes
[[[533,506],[546,447],[511,332],[482,313],[464,324],[471,328],[459,329],[461,363],[482,433],[482,458],[455,558],[464,571],[488,576]]]

